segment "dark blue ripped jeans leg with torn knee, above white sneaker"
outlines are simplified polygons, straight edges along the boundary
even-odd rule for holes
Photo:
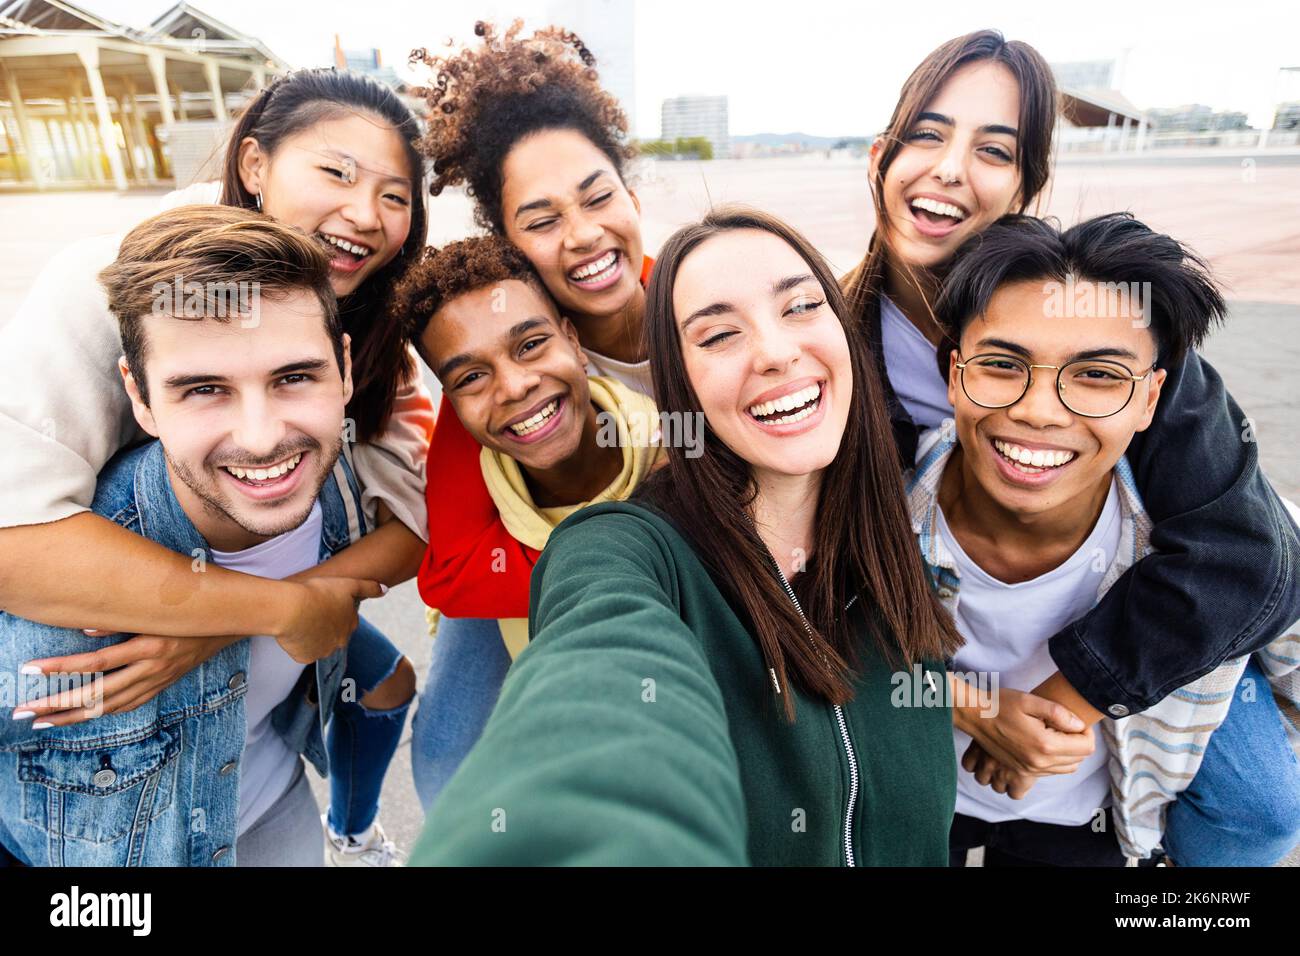
[[[326,732],[329,825],[341,836],[365,832],[380,812],[380,790],[402,739],[411,701],[370,710],[361,698],[396,669],[402,652],[365,618],[347,643],[347,669]]]

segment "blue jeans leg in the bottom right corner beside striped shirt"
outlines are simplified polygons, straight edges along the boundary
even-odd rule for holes
[[[1252,687],[1254,698],[1243,700]],[[1196,778],[1165,818],[1176,866],[1273,866],[1300,843],[1300,766],[1282,721],[1251,658]]]

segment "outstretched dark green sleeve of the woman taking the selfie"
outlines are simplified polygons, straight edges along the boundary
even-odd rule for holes
[[[677,609],[671,548],[619,507],[552,532],[533,571],[533,641],[413,864],[746,862],[738,762]]]

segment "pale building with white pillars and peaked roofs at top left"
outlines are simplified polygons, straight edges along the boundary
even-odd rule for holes
[[[136,29],[65,0],[0,0],[0,182],[186,185],[211,174],[231,111],[287,69],[186,3]]]

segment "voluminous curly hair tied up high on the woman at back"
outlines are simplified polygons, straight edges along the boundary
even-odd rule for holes
[[[595,56],[576,34],[560,27],[537,30],[520,39],[516,20],[504,34],[478,21],[484,43],[441,56],[411,53],[412,64],[429,66],[436,79],[419,94],[429,104],[428,130],[420,142],[433,160],[429,191],[465,185],[474,199],[474,220],[504,233],[502,166],[514,146],[541,130],[581,133],[603,152],[623,177],[636,156],[627,142],[628,118],[619,101],[599,85]],[[448,42],[450,43],[450,42]]]

